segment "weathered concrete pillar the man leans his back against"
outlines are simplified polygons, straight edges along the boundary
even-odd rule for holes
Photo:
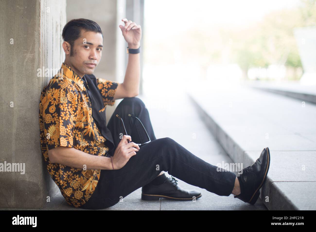
[[[39,101],[51,77],[38,68],[60,68],[63,0],[0,1],[0,163],[24,163],[25,174],[0,172],[0,207],[41,208],[56,193],[40,149]]]

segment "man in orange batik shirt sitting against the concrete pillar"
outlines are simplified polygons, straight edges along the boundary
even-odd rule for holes
[[[139,187],[143,200],[195,200],[202,196],[181,188],[175,176],[220,196],[234,194],[255,204],[269,170],[269,148],[236,177],[168,137],[156,139],[149,112],[136,98],[141,27],[122,21],[125,26],[119,27],[129,53],[123,83],[93,75],[102,55],[102,31],[94,21],[75,19],[63,29],[66,58],[60,72],[41,93],[41,149],[47,170],[67,203],[103,209]],[[124,99],[106,126],[106,105],[120,98]]]

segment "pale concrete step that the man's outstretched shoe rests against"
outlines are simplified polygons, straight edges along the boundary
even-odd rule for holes
[[[238,84],[188,89],[216,140],[235,163],[271,154],[260,198],[269,210],[315,210],[316,105]]]

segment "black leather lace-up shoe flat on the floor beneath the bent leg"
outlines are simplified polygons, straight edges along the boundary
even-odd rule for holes
[[[199,191],[185,190],[179,186],[177,180],[171,176],[168,177],[161,185],[151,183],[142,187],[142,200],[159,200],[166,198],[170,200],[192,200],[202,196]]]

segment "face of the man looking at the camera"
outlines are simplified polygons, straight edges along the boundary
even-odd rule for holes
[[[82,77],[84,74],[93,74],[95,67],[100,62],[102,56],[103,38],[101,33],[81,31],[73,47],[73,55],[66,53],[66,63],[74,69],[76,74]],[[91,65],[95,64],[95,65]]]

